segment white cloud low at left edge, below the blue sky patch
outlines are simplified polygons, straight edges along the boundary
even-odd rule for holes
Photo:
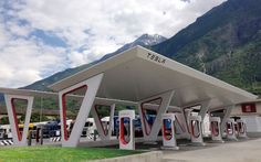
[[[0,52],[0,86],[21,87],[64,67],[64,50],[35,44],[33,40],[9,41]],[[66,61],[63,61],[66,62]]]

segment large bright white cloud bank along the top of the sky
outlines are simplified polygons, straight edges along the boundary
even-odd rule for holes
[[[163,0],[158,3],[158,0],[55,0],[50,3],[48,0],[25,0],[18,17],[29,21],[35,29],[56,33],[72,50],[85,44],[101,56],[144,33],[169,37],[222,1]],[[109,40],[112,36],[114,40]],[[97,47],[104,42],[107,45]]]

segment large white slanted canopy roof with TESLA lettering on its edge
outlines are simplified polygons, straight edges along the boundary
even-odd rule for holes
[[[173,106],[184,107],[211,99],[211,108],[257,98],[142,46],[136,46],[50,86],[54,91],[104,73],[97,97],[138,101],[175,90]]]

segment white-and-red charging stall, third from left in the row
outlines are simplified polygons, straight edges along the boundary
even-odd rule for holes
[[[201,116],[189,117],[190,137],[194,145],[206,145],[202,139]]]

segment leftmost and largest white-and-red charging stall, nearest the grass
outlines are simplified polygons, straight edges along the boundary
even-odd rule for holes
[[[134,110],[122,110],[118,112],[119,118],[119,149],[135,150],[134,141]]]

